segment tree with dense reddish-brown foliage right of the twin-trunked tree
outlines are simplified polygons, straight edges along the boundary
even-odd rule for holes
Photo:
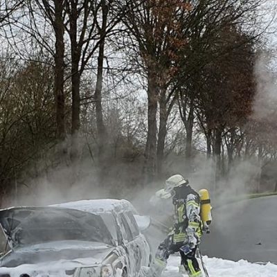
[[[234,130],[242,126],[251,113],[255,91],[253,80],[255,55],[251,36],[230,28],[228,32],[225,30],[222,39],[219,45],[222,49],[226,48],[226,53],[207,64],[201,71],[204,79],[201,81],[199,78],[202,87],[199,88],[196,102],[198,119],[203,119],[199,113],[205,114],[202,127],[205,127],[204,132],[209,136],[209,143],[213,139],[217,179],[221,177],[224,162],[222,159],[224,132],[225,135],[231,134],[230,141],[227,140],[227,150],[233,157],[231,145],[235,143]],[[231,160],[229,157],[230,163]]]

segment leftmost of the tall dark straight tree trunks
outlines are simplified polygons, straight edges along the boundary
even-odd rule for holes
[[[65,100],[64,100],[64,21],[62,17],[62,1],[55,1],[55,105],[56,105],[56,123],[57,139],[61,141],[65,138]]]

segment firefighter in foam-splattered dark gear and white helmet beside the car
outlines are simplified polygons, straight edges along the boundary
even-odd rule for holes
[[[150,267],[143,267],[147,277],[159,277],[166,268],[172,253],[179,251],[181,265],[190,277],[203,277],[202,269],[196,258],[202,235],[199,194],[188,185],[188,180],[181,175],[173,175],[166,180],[165,188],[159,190],[159,197],[169,199],[175,209],[175,224],[166,240],[161,242]]]

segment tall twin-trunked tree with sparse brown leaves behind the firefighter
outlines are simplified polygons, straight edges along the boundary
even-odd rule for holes
[[[170,84],[177,72],[177,52],[186,44],[179,19],[190,10],[186,1],[133,1],[129,4],[125,24],[134,37],[131,44],[141,57],[148,93],[148,139],[145,147],[145,183],[161,171],[166,122],[175,100],[175,89]],[[157,111],[160,111],[159,140],[157,141]],[[158,144],[158,148],[157,148]]]

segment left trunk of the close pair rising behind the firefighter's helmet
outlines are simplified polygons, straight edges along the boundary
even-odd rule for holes
[[[145,184],[154,180],[157,170],[157,102],[158,89],[156,75],[148,74],[148,136],[144,152],[143,174]]]

